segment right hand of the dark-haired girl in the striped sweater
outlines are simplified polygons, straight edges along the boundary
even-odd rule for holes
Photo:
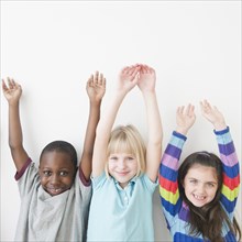
[[[224,130],[227,128],[223,114],[217,109],[217,107],[211,107],[207,101],[200,101],[201,114],[213,124],[216,130]]]

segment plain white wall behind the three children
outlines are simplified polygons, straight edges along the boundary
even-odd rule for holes
[[[96,69],[106,75],[105,108],[118,72],[135,63],[156,69],[164,145],[176,107],[191,102],[197,122],[183,157],[198,150],[217,153],[212,127],[199,110],[207,98],[224,113],[241,161],[241,1],[1,1],[0,73],[22,85],[24,146],[35,162],[56,139],[72,142],[80,154],[87,78]],[[138,89],[124,100],[118,123],[135,124],[145,138]],[[14,173],[1,94],[1,241],[13,240],[19,216]],[[241,213],[241,197],[237,210]],[[154,222],[156,240],[169,240],[158,193]]]

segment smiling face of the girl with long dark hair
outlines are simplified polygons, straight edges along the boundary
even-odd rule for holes
[[[194,165],[184,179],[187,199],[196,207],[202,207],[213,200],[218,190],[218,178],[213,167]]]

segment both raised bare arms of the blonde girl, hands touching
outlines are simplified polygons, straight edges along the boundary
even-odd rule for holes
[[[118,113],[118,110],[130,90],[139,86],[142,91],[147,116],[148,141],[146,152],[145,173],[151,180],[155,182],[158,172],[162,153],[162,123],[155,95],[155,72],[146,65],[133,65],[124,67],[119,75],[117,88],[113,91],[113,98],[110,100],[110,107],[101,117],[96,134],[92,176],[97,177],[105,170],[107,162],[106,151],[110,133]],[[135,174],[135,173],[134,173]],[[127,183],[125,183],[127,185]]]

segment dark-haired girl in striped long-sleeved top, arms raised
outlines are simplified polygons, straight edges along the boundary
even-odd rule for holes
[[[160,166],[160,194],[167,228],[173,241],[240,241],[241,230],[234,218],[240,168],[233,141],[222,113],[207,100],[200,107],[215,128],[220,158],[209,152],[196,152],[178,167],[186,134],[196,120],[194,106],[179,107],[177,128]]]

